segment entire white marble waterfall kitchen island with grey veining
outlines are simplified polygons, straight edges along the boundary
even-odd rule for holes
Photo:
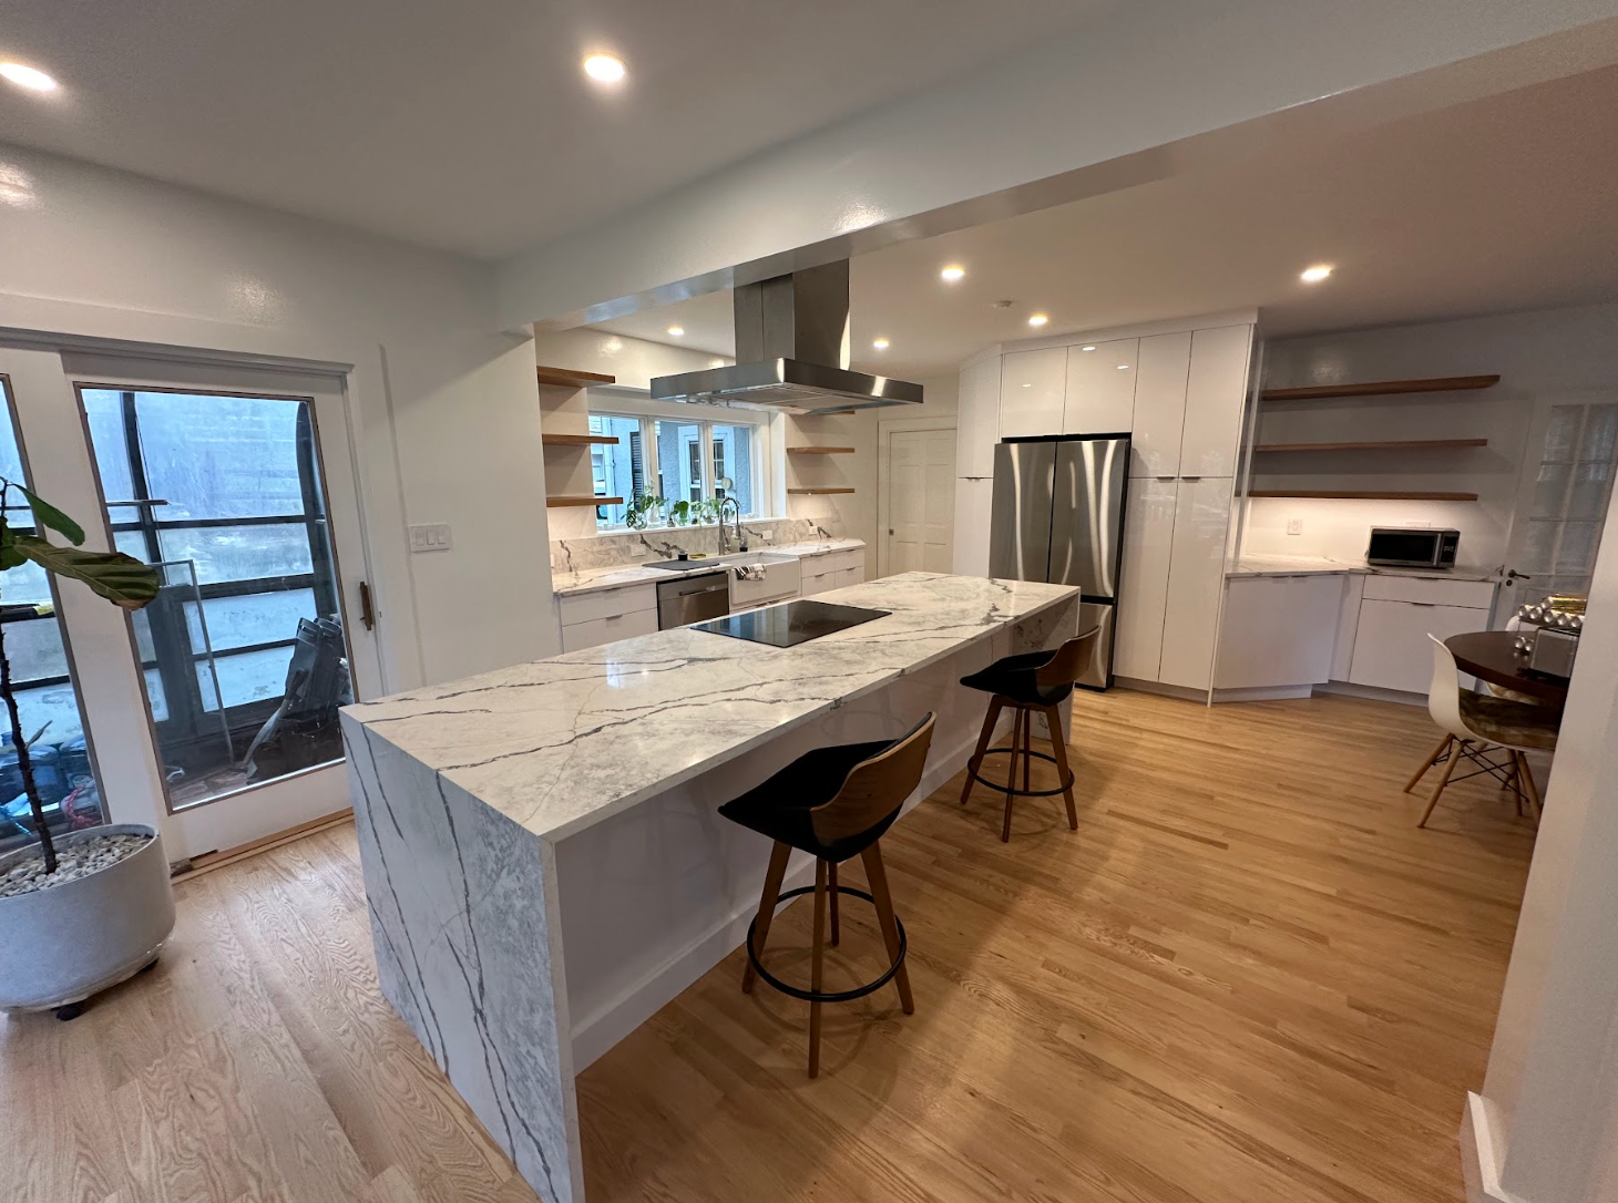
[[[909,572],[817,600],[892,614],[791,648],[660,631],[343,711],[382,990],[540,1198],[582,1203],[574,1074],[741,944],[769,846],[718,805],[935,710],[919,802],[982,721],[956,679],[1074,635],[1079,593]]]

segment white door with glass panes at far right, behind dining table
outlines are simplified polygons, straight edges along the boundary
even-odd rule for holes
[[[1535,406],[1495,624],[1547,593],[1589,593],[1618,461],[1618,396]]]

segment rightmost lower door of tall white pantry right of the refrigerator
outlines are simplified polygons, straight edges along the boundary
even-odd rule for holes
[[[1157,673],[1165,686],[1214,686],[1233,485],[1230,477],[1178,482],[1168,597],[1163,603],[1163,660]]]

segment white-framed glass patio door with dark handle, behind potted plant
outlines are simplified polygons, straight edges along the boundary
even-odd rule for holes
[[[131,618],[61,590],[110,818],[180,860],[346,808],[335,711],[380,666],[343,380],[39,351],[0,372],[40,492],[162,579]]]

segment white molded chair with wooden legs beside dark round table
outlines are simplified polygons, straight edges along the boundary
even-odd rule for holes
[[[1526,797],[1537,820],[1539,787],[1534,784],[1534,770],[1529,768],[1527,757],[1523,753],[1557,750],[1557,726],[1561,721],[1561,713],[1548,707],[1463,690],[1461,671],[1455,666],[1450,648],[1437,635],[1429,634],[1427,639],[1432,640],[1432,687],[1427,692],[1427,713],[1445,734],[1432,755],[1416,770],[1416,776],[1404,786],[1404,792],[1416,789],[1416,783],[1440,760],[1443,760],[1443,775],[1438,778],[1438,786],[1432,791],[1427,810],[1416,826],[1427,826],[1434,807],[1438,805],[1438,796],[1450,784],[1450,775],[1463,758],[1479,768],[1455,778],[1456,781],[1489,773],[1518,796],[1519,812]],[[1506,758],[1490,758],[1490,752],[1505,752]]]

